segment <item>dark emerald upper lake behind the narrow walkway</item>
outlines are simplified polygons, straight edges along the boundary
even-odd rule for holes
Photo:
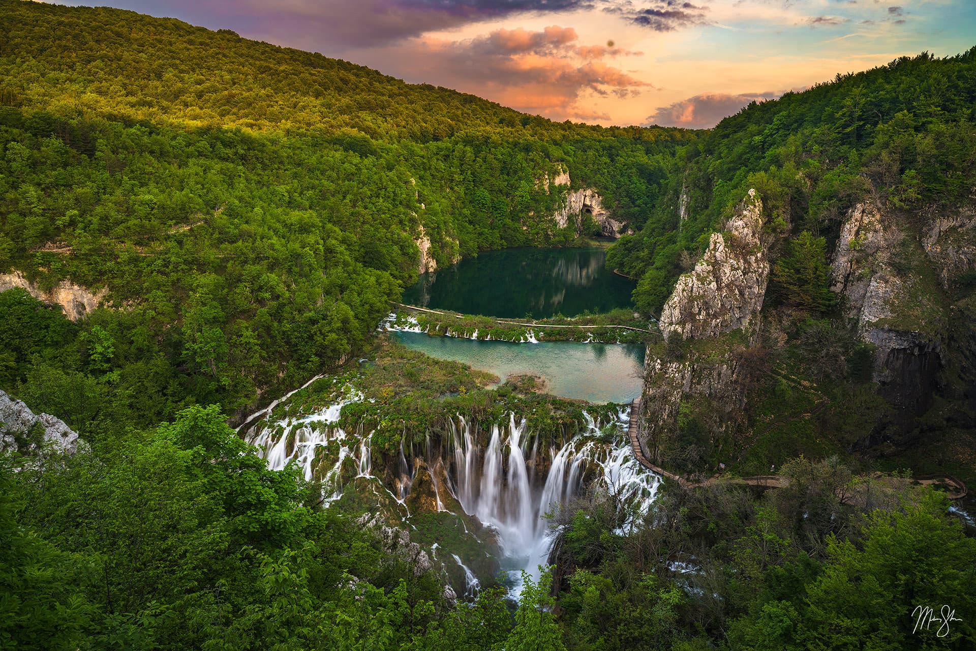
[[[422,274],[403,303],[507,318],[627,307],[633,282],[605,268],[605,260],[598,247],[488,251]]]

